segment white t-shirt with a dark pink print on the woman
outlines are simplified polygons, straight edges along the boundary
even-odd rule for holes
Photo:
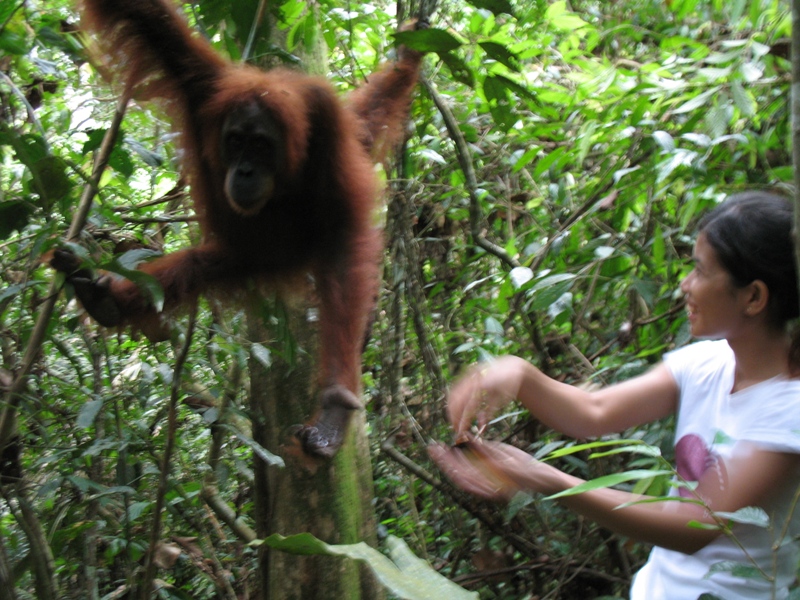
[[[733,388],[735,360],[724,340],[703,341],[667,354],[664,362],[680,390],[675,428],[676,470],[688,481],[697,481],[719,459],[746,450],[751,442],[776,452],[800,453],[800,381],[775,377],[736,393]],[[773,544],[782,534],[792,497],[800,486],[800,470],[771,494],[764,507],[775,531],[755,525],[736,524],[733,533],[766,573],[762,578],[734,576],[729,570],[710,573],[713,565],[730,561],[751,566],[730,537],[721,535],[694,554],[656,547],[636,574],[631,600],[697,600],[704,593],[722,600],[782,599],[794,580],[798,547],[791,540],[800,533],[800,506],[773,563]],[[685,495],[688,490],[683,490]],[[672,495],[681,493],[675,489]],[[675,503],[677,505],[677,502]]]

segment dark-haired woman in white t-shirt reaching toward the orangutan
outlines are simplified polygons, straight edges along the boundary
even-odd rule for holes
[[[693,490],[676,486],[677,501],[645,500],[602,489],[560,501],[625,536],[652,543],[636,574],[634,600],[785,598],[794,580],[800,533],[800,340],[787,325],[798,317],[792,207],[764,192],[730,197],[700,224],[694,268],[681,283],[692,335],[704,338],[668,353],[648,373],[588,392],[545,376],[516,357],[473,367],[450,393],[448,415],[457,436],[469,438],[474,419],[485,425],[501,406],[519,400],[530,414],[564,434],[587,438],[621,432],[677,414],[676,470]],[[714,341],[712,341],[714,340]],[[432,458],[450,479],[487,498],[517,491],[555,494],[583,483],[506,444],[473,441],[472,452],[434,445]],[[710,511],[763,508],[771,528],[718,529]],[[742,578],[731,561],[762,569]]]

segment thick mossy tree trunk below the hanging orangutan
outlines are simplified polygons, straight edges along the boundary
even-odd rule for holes
[[[278,469],[256,459],[258,536],[309,532],[328,543],[363,540],[374,545],[372,468],[364,412],[355,415],[347,441],[333,460],[312,460],[301,452],[292,430],[308,421],[317,409],[317,332],[307,318],[307,307],[284,309],[273,303],[275,307],[272,314],[280,316],[271,319],[268,327],[259,322],[255,309],[248,314],[250,340],[275,342],[269,369],[258,360],[250,360],[253,439],[286,461],[286,467]],[[351,561],[296,556],[267,548],[261,552],[263,600],[382,597],[372,574]]]

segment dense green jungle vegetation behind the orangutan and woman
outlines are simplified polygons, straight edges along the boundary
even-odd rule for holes
[[[237,59],[258,4],[186,8]],[[277,4],[272,38],[285,49],[262,28],[249,48],[256,61],[302,62],[322,42],[344,92],[391,52],[393,4]],[[482,598],[626,594],[646,548],[553,502],[465,498],[439,481],[425,445],[448,439],[446,387],[475,360],[519,354],[595,385],[687,341],[678,282],[698,215],[728,193],[791,182],[788,9],[439,4],[412,131],[387,172],[384,286],[365,353],[381,535]],[[0,6],[0,385],[29,373],[19,437],[0,465],[0,581],[15,581],[0,598],[37,597],[48,553],[58,597],[122,597],[115,590],[147,548],[180,346],[102,331],[62,295],[30,355],[54,278],[42,257],[66,235],[117,100],[87,62],[77,23],[67,0]],[[133,104],[122,128],[80,236],[92,261],[117,270],[197,236],[163,114]],[[269,363],[283,347],[248,340],[235,304],[201,306],[167,493],[164,597],[252,597],[253,551],[214,518],[201,488],[211,426],[224,422],[218,486],[237,515],[251,515],[247,358]],[[669,458],[670,425],[626,437]],[[538,455],[572,443],[518,411],[486,435]],[[660,465],[587,451],[559,460],[585,478]],[[663,491],[658,478],[637,485]]]

